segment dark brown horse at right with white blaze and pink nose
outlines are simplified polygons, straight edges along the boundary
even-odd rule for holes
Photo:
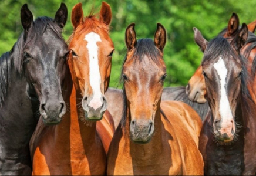
[[[245,23],[234,38],[217,36],[210,42],[194,28],[196,43],[204,52],[201,65],[211,109],[199,140],[206,175],[256,172],[253,79],[247,70],[248,60],[240,53],[247,37]]]

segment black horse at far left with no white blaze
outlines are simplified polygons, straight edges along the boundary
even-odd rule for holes
[[[65,113],[60,83],[68,45],[61,33],[67,16],[65,4],[54,19],[35,21],[27,4],[21,8],[24,31],[0,58],[0,175],[31,175],[29,140],[39,116],[51,123]]]

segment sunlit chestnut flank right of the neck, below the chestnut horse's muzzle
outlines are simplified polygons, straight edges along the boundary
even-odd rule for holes
[[[99,134],[100,140],[102,141],[104,150],[107,153],[114,135],[114,120],[109,111],[105,111],[102,120],[97,121],[96,130]]]

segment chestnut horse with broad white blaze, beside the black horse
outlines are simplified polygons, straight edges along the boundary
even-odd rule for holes
[[[38,122],[31,139],[33,175],[106,174],[106,153],[114,133],[105,97],[114,51],[109,4],[102,2],[96,17],[90,13],[83,18],[81,3],[72,9],[68,66],[73,84],[65,99],[69,109],[58,126]]]

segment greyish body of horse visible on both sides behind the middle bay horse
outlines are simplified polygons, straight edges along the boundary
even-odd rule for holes
[[[112,115],[114,119],[114,127],[117,128],[120,120],[122,119],[122,111],[123,111],[123,96],[122,96],[122,90],[109,87],[106,92],[106,98],[108,100],[107,104],[107,110],[109,110],[110,114]],[[178,86],[178,87],[165,87],[163,89],[163,93],[161,96],[161,100],[163,101],[182,101],[184,103],[187,103],[189,106],[193,107],[194,110],[198,113],[201,120],[204,120],[204,117],[206,117],[206,114],[208,113],[208,103],[197,103],[194,101],[190,101],[188,99],[186,90],[184,86]]]

